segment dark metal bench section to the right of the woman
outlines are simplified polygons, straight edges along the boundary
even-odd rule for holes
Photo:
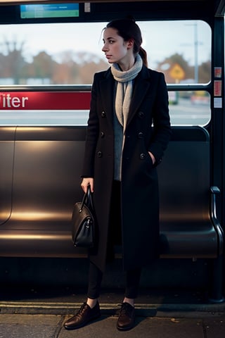
[[[210,187],[210,139],[201,127],[174,127],[160,177],[161,256],[216,258],[223,234]]]

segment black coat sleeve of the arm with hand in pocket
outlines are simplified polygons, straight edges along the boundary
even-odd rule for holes
[[[148,151],[155,156],[155,165],[162,161],[162,156],[172,134],[167,85],[164,75],[158,74],[158,88],[153,106],[153,137],[148,146]]]

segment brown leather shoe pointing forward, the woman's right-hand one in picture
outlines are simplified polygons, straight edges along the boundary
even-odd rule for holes
[[[117,329],[120,331],[131,330],[134,327],[135,310],[129,303],[122,303],[120,315],[117,320]]]

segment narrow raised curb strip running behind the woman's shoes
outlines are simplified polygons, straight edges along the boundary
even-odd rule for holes
[[[75,313],[82,303],[62,303],[62,302],[16,302],[2,301],[0,303],[1,314],[51,314],[51,315],[71,315]],[[136,303],[136,315],[141,317],[206,317],[207,315],[224,315],[225,303],[210,304],[190,304],[190,303]],[[118,303],[101,303],[101,313],[103,315],[117,315],[120,309]]]

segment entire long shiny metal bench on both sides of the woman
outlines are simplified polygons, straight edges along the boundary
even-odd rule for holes
[[[79,187],[85,127],[1,127],[0,256],[86,257],[72,246],[70,218]],[[210,187],[210,137],[173,127],[158,167],[160,256],[209,258],[211,299],[223,301],[223,232]]]

